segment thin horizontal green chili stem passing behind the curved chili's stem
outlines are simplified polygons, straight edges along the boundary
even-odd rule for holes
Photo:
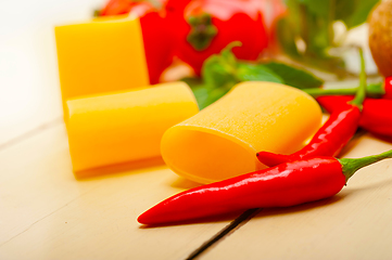
[[[347,88],[347,89],[320,89],[320,88],[312,88],[312,89],[303,89],[304,92],[308,93],[313,98],[321,96],[321,95],[355,95],[358,91],[357,88]],[[385,94],[385,90],[382,82],[379,83],[370,83],[366,86],[366,95],[371,98],[380,98]]]

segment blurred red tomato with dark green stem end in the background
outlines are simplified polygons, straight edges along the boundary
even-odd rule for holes
[[[203,62],[228,43],[241,41],[233,53],[256,60],[267,47],[263,15],[254,0],[194,0],[184,11],[186,24],[178,25],[177,55],[200,75]]]

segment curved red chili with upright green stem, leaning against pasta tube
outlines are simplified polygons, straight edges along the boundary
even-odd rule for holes
[[[366,96],[366,74],[363,52],[361,53],[362,73],[361,86],[355,99],[346,102],[344,107],[331,113],[329,119],[315,133],[311,142],[302,150],[291,155],[281,155],[262,151],[256,154],[257,159],[268,166],[276,166],[286,161],[307,159],[315,156],[336,156],[354,135],[362,110],[362,103]]]

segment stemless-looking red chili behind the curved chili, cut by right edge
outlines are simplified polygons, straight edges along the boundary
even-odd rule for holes
[[[317,102],[329,113],[346,107],[351,96],[320,96]],[[392,138],[392,100],[366,99],[363,106],[359,127],[370,133]]]

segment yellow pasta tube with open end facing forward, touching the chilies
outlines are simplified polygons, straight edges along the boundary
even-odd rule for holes
[[[165,162],[200,183],[265,168],[255,154],[299,150],[321,122],[317,102],[301,90],[271,82],[242,82],[198,115],[168,129]]]

